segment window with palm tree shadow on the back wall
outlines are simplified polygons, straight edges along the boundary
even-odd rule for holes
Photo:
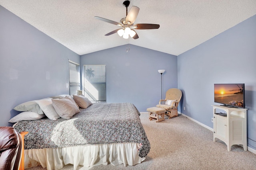
[[[84,65],[84,96],[106,102],[106,65]]]

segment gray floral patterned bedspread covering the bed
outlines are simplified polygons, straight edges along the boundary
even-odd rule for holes
[[[92,104],[71,119],[43,118],[16,123],[18,132],[28,131],[25,149],[60,148],[84,144],[138,143],[145,157],[150,143],[140,121],[140,112],[130,103]]]

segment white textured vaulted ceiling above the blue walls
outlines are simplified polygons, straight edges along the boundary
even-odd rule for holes
[[[124,0],[0,0],[0,5],[78,55],[125,44],[180,55],[256,14],[256,0],[130,0],[140,12],[134,23],[160,24],[136,30],[138,39],[123,39],[119,22]]]

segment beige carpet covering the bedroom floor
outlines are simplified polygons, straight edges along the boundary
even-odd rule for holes
[[[233,145],[228,152],[222,141],[213,142],[212,131],[184,116],[155,123],[148,114],[140,115],[151,149],[135,166],[79,166],[77,170],[256,170],[256,154]],[[28,170],[46,170],[41,166]],[[73,170],[72,165],[62,170]]]

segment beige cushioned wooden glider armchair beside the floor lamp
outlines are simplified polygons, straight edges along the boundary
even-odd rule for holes
[[[178,116],[178,105],[182,96],[178,88],[170,88],[166,92],[165,100],[160,100],[156,107],[166,109],[165,115],[170,118]]]

